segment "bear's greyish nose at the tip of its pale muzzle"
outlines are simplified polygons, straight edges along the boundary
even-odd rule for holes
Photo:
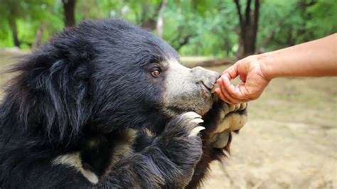
[[[220,73],[212,70],[206,70],[200,66],[193,68],[193,75],[196,78],[196,82],[204,85],[208,90],[212,90],[216,80],[221,76]]]

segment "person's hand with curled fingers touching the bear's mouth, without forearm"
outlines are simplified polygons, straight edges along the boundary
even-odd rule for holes
[[[230,80],[240,77],[240,84],[234,86]],[[217,80],[219,87],[215,93],[220,99],[230,104],[248,102],[257,99],[269,84],[269,79],[264,75],[264,65],[260,55],[251,55],[237,61],[223,72]]]

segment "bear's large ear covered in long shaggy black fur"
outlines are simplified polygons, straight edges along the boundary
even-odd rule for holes
[[[21,57],[8,89],[21,123],[57,142],[77,136],[90,115],[90,60],[60,54],[41,50]]]

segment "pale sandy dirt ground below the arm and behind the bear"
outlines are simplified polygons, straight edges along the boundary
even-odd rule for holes
[[[0,70],[17,54],[0,51]],[[337,77],[272,80],[231,151],[202,188],[337,188]]]

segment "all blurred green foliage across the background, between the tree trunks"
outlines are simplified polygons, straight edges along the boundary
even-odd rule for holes
[[[240,0],[242,10],[246,0]],[[337,2],[333,0],[260,0],[257,49],[275,50],[328,36],[337,31]],[[156,33],[161,0],[76,1],[77,22],[124,18]],[[13,47],[10,23],[16,23],[20,48],[30,48],[41,24],[43,41],[64,27],[61,0],[2,0],[0,48]],[[181,55],[218,58],[234,56],[238,48],[238,16],[233,0],[171,0],[164,13],[164,40]]]

